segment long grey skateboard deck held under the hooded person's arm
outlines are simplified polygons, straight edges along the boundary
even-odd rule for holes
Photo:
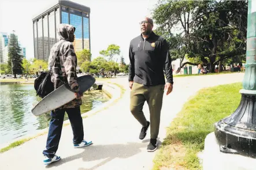
[[[80,93],[84,93],[94,85],[95,78],[91,75],[82,75],[77,77],[76,81],[79,84]],[[66,82],[64,85],[55,89],[53,92],[49,93],[49,95],[40,100],[39,103],[32,108],[32,114],[35,116],[45,114],[69,103],[69,101],[74,99],[76,99],[76,95],[71,90],[68,82]]]

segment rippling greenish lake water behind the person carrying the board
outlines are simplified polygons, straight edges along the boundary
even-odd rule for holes
[[[36,117],[31,113],[32,103],[41,100],[36,96],[34,85],[1,85],[0,92],[0,143],[12,141],[49,126],[49,120],[43,115]],[[86,92],[81,113],[90,111],[105,101],[106,96],[98,90]],[[68,115],[65,114],[66,119]]]

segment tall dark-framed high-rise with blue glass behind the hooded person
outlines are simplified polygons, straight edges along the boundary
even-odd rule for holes
[[[60,40],[58,24],[71,24],[76,28],[75,51],[91,50],[90,8],[71,1],[58,1],[50,9],[33,19],[34,54],[36,59],[48,61],[50,49]]]

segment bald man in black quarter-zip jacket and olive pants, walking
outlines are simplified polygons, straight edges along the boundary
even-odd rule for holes
[[[153,26],[151,18],[146,17],[144,21],[141,21],[142,34],[135,37],[129,47],[130,109],[133,116],[143,126],[139,134],[140,139],[146,137],[150,126],[148,152],[154,152],[157,149],[164,91],[166,90],[166,95],[169,95],[173,88],[169,46],[163,37],[155,35],[152,31]],[[149,105],[151,123],[146,120],[142,111],[145,101]]]

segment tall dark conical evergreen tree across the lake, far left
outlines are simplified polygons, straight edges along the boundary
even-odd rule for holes
[[[16,74],[23,73],[23,67],[22,67],[23,56],[20,55],[20,52],[21,52],[20,44],[18,44],[18,38],[14,34],[14,32],[10,34],[8,46],[9,46],[8,68],[9,70],[13,70],[14,78],[16,78]]]

